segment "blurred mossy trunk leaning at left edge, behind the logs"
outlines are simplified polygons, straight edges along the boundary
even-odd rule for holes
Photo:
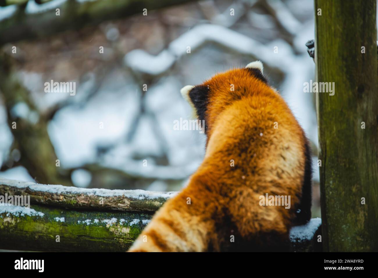
[[[72,185],[70,178],[56,166],[57,156],[47,133],[48,119],[38,114],[36,106],[29,99],[28,90],[17,78],[14,63],[12,57],[0,52],[0,91],[7,111],[9,129],[14,137],[12,148],[20,151],[19,163],[38,182]],[[15,105],[26,105],[28,115],[20,117],[14,111]]]

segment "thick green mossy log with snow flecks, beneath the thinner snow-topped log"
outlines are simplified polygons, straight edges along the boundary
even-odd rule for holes
[[[0,206],[0,249],[126,251],[151,217],[146,213],[76,211],[40,205],[29,209]]]

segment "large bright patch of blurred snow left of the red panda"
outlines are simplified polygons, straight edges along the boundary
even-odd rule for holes
[[[48,125],[48,133],[64,167],[79,167],[97,159],[99,145],[112,145],[133,124],[138,98],[132,87],[101,91],[84,107],[60,109]]]

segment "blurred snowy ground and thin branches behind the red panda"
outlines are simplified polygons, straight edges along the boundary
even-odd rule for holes
[[[29,1],[26,12],[60,3]],[[191,116],[180,88],[261,60],[311,141],[313,217],[320,216],[315,96],[303,92],[303,83],[314,80],[305,46],[314,38],[313,9],[312,0],[206,0],[17,42],[17,76],[36,110],[19,102],[10,112],[36,124],[51,114],[48,137],[62,175],[67,170],[77,187],[180,190],[202,161],[205,142],[198,131],[173,129],[174,120]],[[0,20],[14,11],[0,7]],[[51,79],[76,82],[76,95],[45,93]],[[0,94],[0,176],[38,181],[29,165],[17,163],[22,153],[4,99]]]

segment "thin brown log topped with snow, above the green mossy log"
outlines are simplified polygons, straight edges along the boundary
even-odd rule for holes
[[[30,196],[32,204],[55,207],[119,210],[123,212],[155,212],[175,192],[146,190],[109,190],[78,188],[63,185],[45,185],[34,182],[13,181],[0,178],[0,195]]]

